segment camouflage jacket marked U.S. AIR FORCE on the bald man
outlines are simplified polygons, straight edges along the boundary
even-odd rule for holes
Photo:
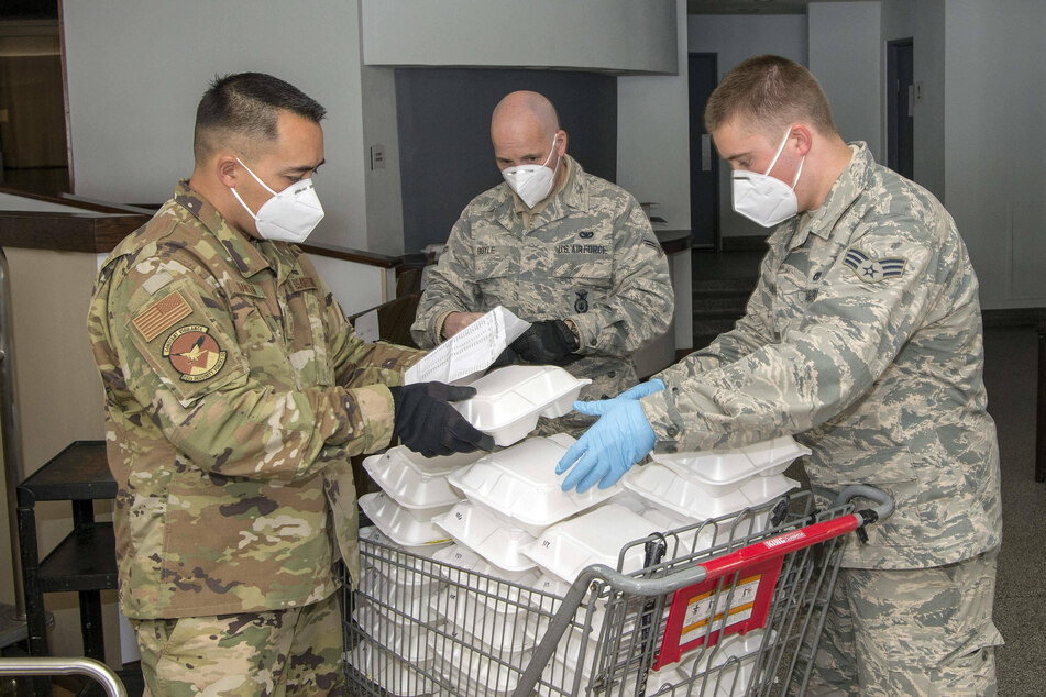
[[[431,347],[448,313],[498,305],[527,321],[569,319],[581,335],[581,358],[563,367],[592,378],[582,397],[613,397],[636,383],[631,354],[672,319],[668,262],[631,195],[570,157],[566,165],[564,186],[529,228],[527,209],[507,184],[469,203],[410,332]]]

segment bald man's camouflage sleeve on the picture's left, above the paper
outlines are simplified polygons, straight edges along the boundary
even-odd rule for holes
[[[476,283],[469,209],[451,230],[447,250],[440,261],[429,272],[429,278],[418,312],[410,327],[410,335],[422,348],[438,345],[442,339],[440,330],[443,319],[450,312],[475,312],[481,303],[480,286]]]

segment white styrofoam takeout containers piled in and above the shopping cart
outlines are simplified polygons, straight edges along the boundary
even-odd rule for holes
[[[409,664],[442,675],[462,694],[511,694],[518,673],[508,666],[525,666],[546,631],[547,619],[535,608],[552,610],[550,596],[565,595],[586,566],[639,571],[650,563],[643,545],[625,547],[656,532],[678,531],[665,536],[674,535],[678,554],[708,549],[725,540],[717,539],[715,525],[694,523],[761,506],[797,486],[783,473],[808,451],[784,436],[731,451],[653,455],[610,488],[563,491],[555,466],[574,439],[514,443],[540,417],[568,413],[587,383],[553,366],[494,370],[472,383],[475,397],[454,406],[504,450],[425,458],[400,446],[364,461],[382,491],[360,497],[360,506],[381,532],[364,529],[361,536],[414,553],[394,552],[396,563],[371,560],[361,583],[366,597],[353,616],[376,646],[361,644],[350,661],[368,674],[375,672],[368,666],[381,666],[371,678],[389,693],[436,690]],[[730,536],[759,532],[766,519],[737,516]],[[572,627],[560,641],[554,684],[569,687],[577,672],[587,683],[603,606],[597,602],[587,616],[587,631]],[[651,673],[647,689],[748,653],[758,637],[729,638],[714,653]],[[368,661],[367,652],[378,648],[392,655]],[[730,692],[738,685],[744,692],[750,667],[731,671]]]

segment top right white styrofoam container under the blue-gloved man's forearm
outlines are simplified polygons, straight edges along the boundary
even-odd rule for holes
[[[792,461],[808,454],[810,449],[796,443],[791,435],[781,435],[731,450],[661,453],[650,457],[700,483],[711,494],[725,494],[749,477],[781,474]]]

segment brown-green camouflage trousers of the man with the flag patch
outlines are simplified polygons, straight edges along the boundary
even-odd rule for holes
[[[346,695],[338,596],[289,610],[137,620],[145,696]]]

